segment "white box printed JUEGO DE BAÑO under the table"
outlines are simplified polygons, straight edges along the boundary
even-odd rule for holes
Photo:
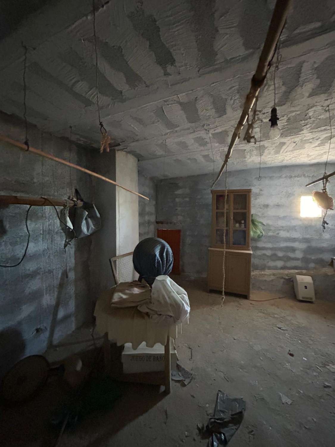
[[[146,342],[143,342],[134,350],[131,343],[126,343],[121,362],[125,374],[164,371],[164,346],[156,343],[152,348],[147,348]],[[176,362],[177,353],[171,340],[171,369],[175,369]]]

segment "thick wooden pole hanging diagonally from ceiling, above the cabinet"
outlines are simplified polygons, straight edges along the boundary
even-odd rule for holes
[[[231,152],[233,151],[233,148],[235,146],[235,143],[237,139],[239,138],[241,131],[243,129],[243,126],[245,122],[247,121],[247,117],[250,113],[251,107],[254,105],[255,99],[260,92],[260,88],[262,87],[264,80],[266,78],[266,75],[268,73],[269,69],[269,62],[274,54],[274,51],[276,50],[276,44],[278,42],[278,39],[281,35],[281,31],[284,28],[285,21],[287,18],[287,15],[289,13],[289,9],[291,7],[292,0],[277,0],[276,6],[273,10],[272,19],[269,25],[268,34],[266,36],[264,46],[262,53],[260,55],[260,60],[258,61],[258,65],[255,71],[254,76],[251,79],[251,87],[249,90],[249,93],[247,94],[246,100],[244,102],[243,111],[239,118],[239,122],[237,123],[237,126],[235,127],[235,130],[233,132],[233,136],[231,137],[228,151],[225,156],[225,160],[221,166],[220,172],[218,173],[218,177],[216,177],[212,188],[214,187],[215,183],[218,181],[218,179],[221,177],[221,174],[223,173],[223,170],[226,167],[226,164],[228,163],[228,160],[230,159]]]

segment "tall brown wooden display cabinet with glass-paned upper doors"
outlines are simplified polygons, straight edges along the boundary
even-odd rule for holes
[[[251,190],[212,191],[212,234],[208,263],[209,290],[222,290],[222,261],[224,237],[226,237],[225,291],[247,295],[249,298],[252,255],[250,226]]]

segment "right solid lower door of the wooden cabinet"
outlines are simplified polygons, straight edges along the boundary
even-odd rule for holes
[[[251,256],[228,253],[226,291],[248,295],[250,293]]]

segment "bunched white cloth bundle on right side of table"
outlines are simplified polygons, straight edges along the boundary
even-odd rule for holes
[[[187,292],[167,275],[157,276],[151,290],[151,301],[140,304],[138,310],[156,323],[181,323],[190,311]]]

